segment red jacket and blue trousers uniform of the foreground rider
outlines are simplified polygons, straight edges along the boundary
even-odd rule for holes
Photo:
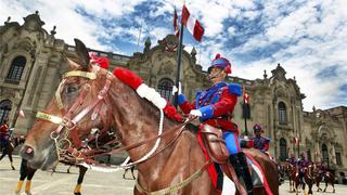
[[[205,91],[197,92],[194,103],[189,103],[183,94],[179,94],[178,104],[184,114],[198,109],[202,113],[202,123],[221,129],[229,153],[232,155],[241,151],[239,130],[230,121],[241,93],[240,84],[218,82]]]

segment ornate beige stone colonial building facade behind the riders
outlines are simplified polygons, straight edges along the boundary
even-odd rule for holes
[[[38,12],[24,17],[24,24],[9,17],[0,26],[0,122],[9,120],[16,133],[25,134],[35,120],[35,114],[46,107],[67,70],[64,55],[75,56],[75,48],[56,39],[55,27],[50,32]],[[171,88],[177,75],[177,46],[175,36],[168,35],[157,44],[150,39],[143,52],[132,56],[90,49],[115,66],[137,73],[166,99],[172,101]],[[285,160],[290,153],[307,153],[312,161],[325,161],[339,173],[347,172],[347,107],[304,112],[300,89],[295,78],[286,78],[278,64],[271,75],[248,80],[230,76],[229,82],[240,83],[252,96],[250,118],[247,130],[260,123],[271,139],[270,153],[278,160]],[[181,66],[183,93],[193,100],[195,93],[209,86],[206,72],[196,63],[196,51],[183,51]],[[242,118],[243,100],[235,107],[233,120],[241,132],[245,131]],[[25,117],[18,117],[20,110]]]

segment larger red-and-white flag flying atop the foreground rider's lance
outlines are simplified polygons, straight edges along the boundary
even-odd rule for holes
[[[205,29],[188,11],[185,4],[182,9],[182,24],[188,28],[188,30],[194,36],[195,40],[201,41]]]

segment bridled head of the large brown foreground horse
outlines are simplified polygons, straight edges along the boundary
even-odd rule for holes
[[[101,94],[105,83],[110,88],[111,74],[90,63],[81,41],[75,39],[75,43],[79,63],[66,57],[70,72],[62,78],[51,102],[37,114],[20,152],[33,168],[52,168],[59,153],[68,146],[79,148],[92,127],[103,129],[112,123],[107,96]]]

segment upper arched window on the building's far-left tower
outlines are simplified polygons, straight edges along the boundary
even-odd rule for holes
[[[7,81],[13,82],[13,83],[20,83],[25,64],[26,64],[26,58],[24,56],[22,55],[16,56],[12,61]]]

